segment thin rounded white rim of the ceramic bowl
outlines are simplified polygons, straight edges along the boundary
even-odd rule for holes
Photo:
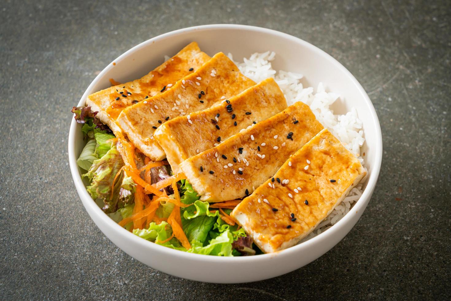
[[[360,197],[359,201],[354,204],[352,207],[352,211],[364,210],[366,205],[369,202],[369,199],[371,198],[371,194],[373,193],[374,187],[377,183],[377,178],[379,176],[379,172],[382,165],[382,132],[381,127],[379,124],[379,120],[377,117],[376,110],[374,109],[373,103],[371,102],[370,98],[368,97],[368,94],[365,92],[364,88],[360,85],[360,83],[355,79],[355,77],[350,73],[348,69],[346,69],[343,65],[341,65],[340,62],[338,62],[335,58],[333,58],[331,55],[329,55],[327,52],[323,51],[322,49],[318,48],[317,46],[314,46],[313,44],[310,44],[298,37],[294,37],[290,34],[279,32],[273,29],[268,28],[262,28],[262,27],[256,27],[256,26],[249,26],[249,25],[240,25],[240,24],[209,24],[209,25],[200,25],[200,26],[193,26],[188,28],[181,28],[177,29],[171,32],[166,32],[161,35],[158,35],[156,37],[153,37],[151,39],[148,39],[147,41],[141,42],[136,46],[133,46],[128,51],[125,51],[123,54],[118,56],[115,60],[112,62],[118,62],[123,60],[124,58],[132,55],[134,52],[142,49],[143,47],[146,47],[149,44],[158,42],[160,40],[166,39],[168,37],[176,36],[184,32],[191,32],[191,31],[202,31],[202,30],[216,30],[216,29],[241,29],[246,31],[254,31],[254,32],[260,32],[260,33],[266,33],[271,35],[276,35],[278,37],[281,37],[283,39],[288,39],[293,42],[299,43],[304,47],[309,48],[312,51],[318,52],[320,55],[325,56],[332,64],[334,64],[338,69],[341,70],[344,74],[346,74],[354,84],[354,86],[357,88],[359,93],[362,94],[364,102],[368,105],[368,108],[370,110],[373,122],[373,127],[376,131],[376,146],[374,149],[375,152],[375,160],[372,164],[370,174],[368,175],[367,179],[367,186],[365,187],[362,196]],[[78,102],[77,106],[84,106],[86,104],[86,98],[89,94],[93,93],[91,92],[91,89],[94,85],[96,85],[106,74],[110,71],[110,69],[113,68],[112,62],[108,64],[97,76],[96,78],[89,84],[85,92],[83,93],[83,96],[80,98],[80,101]],[[156,250],[160,251],[162,253],[167,253],[167,255],[173,255],[173,256],[179,256],[182,257],[182,259],[196,259],[196,260],[208,260],[210,262],[228,262],[232,260],[233,262],[258,262],[258,261],[264,261],[270,258],[273,258],[274,256],[289,256],[293,253],[300,252],[303,249],[307,249],[311,245],[317,244],[320,241],[324,241],[327,239],[330,239],[332,236],[335,236],[340,232],[340,229],[344,227],[348,222],[351,222],[351,214],[345,214],[343,218],[341,218],[340,221],[338,221],[334,227],[330,227],[327,229],[327,231],[320,233],[318,236],[312,237],[308,241],[304,241],[303,243],[299,245],[294,245],[290,248],[277,251],[275,253],[267,253],[262,255],[255,255],[255,256],[237,256],[237,257],[225,257],[225,256],[212,256],[212,255],[202,255],[202,254],[195,254],[195,253],[188,253],[180,250],[174,250],[162,245],[158,245],[156,243],[153,243],[151,241],[147,241],[145,239],[142,239],[139,236],[134,235],[133,233],[127,231],[123,227],[120,227],[119,224],[114,222],[108,215],[106,215],[101,208],[97,206],[95,201],[92,199],[91,195],[88,194],[85,185],[83,184],[82,177],[78,171],[77,166],[77,158],[75,156],[74,152],[74,145],[75,145],[75,131],[77,130],[77,122],[72,118],[71,116],[71,124],[70,124],[70,130],[69,130],[69,137],[68,137],[68,156],[69,156],[69,166],[70,171],[72,174],[72,178],[74,180],[74,184],[76,187],[76,190],[78,192],[78,195],[85,206],[86,210],[91,211],[92,214],[95,214],[102,222],[106,224],[107,227],[111,227],[112,230],[115,230],[115,232],[118,233],[118,235],[121,236],[128,236],[127,239],[132,240],[133,243],[138,244],[142,248],[146,248],[147,250]],[[94,222],[97,226],[97,223]],[[98,226],[97,226],[98,227]],[[352,227],[351,227],[352,229]],[[346,232],[345,235],[347,235],[348,232]],[[121,249],[121,248],[120,248]]]

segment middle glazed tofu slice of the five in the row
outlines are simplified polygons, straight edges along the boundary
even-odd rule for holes
[[[172,171],[178,173],[181,162],[218,145],[218,137],[227,139],[286,107],[281,89],[274,79],[269,78],[221,102],[221,105],[167,121],[153,137],[164,149]],[[249,111],[254,113],[246,115]]]

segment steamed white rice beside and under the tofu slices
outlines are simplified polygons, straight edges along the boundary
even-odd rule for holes
[[[233,60],[232,54],[229,53],[228,56]],[[338,138],[365,167],[364,159],[360,156],[360,147],[365,142],[364,131],[362,129],[362,121],[359,120],[355,108],[352,108],[351,111],[347,112],[345,115],[334,115],[330,106],[339,98],[338,94],[326,92],[322,83],[318,84],[316,92],[313,87],[304,88],[302,83],[300,83],[300,79],[303,77],[302,74],[272,69],[271,61],[274,60],[275,57],[276,53],[270,51],[254,53],[249,58],[244,58],[242,63],[235,62],[235,64],[238,66],[241,73],[257,83],[268,77],[275,79],[284,93],[289,106],[298,101],[306,103],[310,109],[312,109],[319,122],[330,130],[331,133],[334,134],[335,137]],[[324,221],[322,221],[318,227],[304,239],[304,241],[326,231],[350,211],[352,205],[357,202],[360,195],[362,195],[361,183],[366,181],[367,176],[364,177],[359,185],[350,191],[350,194],[345,197],[343,202],[338,204],[331,214],[329,214],[327,218],[325,218]]]

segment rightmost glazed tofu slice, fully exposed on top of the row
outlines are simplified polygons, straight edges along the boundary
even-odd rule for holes
[[[262,251],[286,249],[312,232],[365,174],[354,155],[324,129],[231,216]]]

